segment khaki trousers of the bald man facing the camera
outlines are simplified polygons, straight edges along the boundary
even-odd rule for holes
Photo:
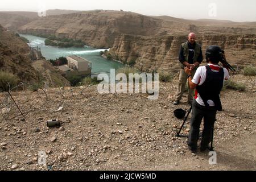
[[[193,69],[192,71],[192,77],[195,75],[196,69]],[[183,96],[185,86],[187,84],[188,80],[188,75],[185,73],[184,69],[180,69],[180,76],[179,76],[179,86],[178,86],[178,91],[175,97],[175,101],[180,101],[181,97]],[[193,101],[193,96],[195,95],[195,89],[191,89],[189,86],[189,91],[188,91],[188,101]]]

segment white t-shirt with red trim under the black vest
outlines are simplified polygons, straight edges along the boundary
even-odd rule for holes
[[[210,67],[212,67],[212,71],[213,72],[218,72],[217,69],[220,68],[219,65],[215,65],[215,64],[208,64],[208,65]],[[223,71],[224,71],[224,80],[228,80],[229,79],[228,69],[223,68]],[[206,76],[207,76],[207,69],[206,69],[206,67],[199,67],[196,70],[196,73],[195,73],[195,76],[192,79],[192,82],[194,84],[197,84],[197,85],[203,85],[203,83],[205,82]],[[205,106],[204,105],[204,101],[200,97],[200,94],[197,92],[197,90],[196,90],[195,100],[201,106]],[[214,102],[212,100],[208,100],[207,103],[209,104],[209,106],[215,106],[215,104],[214,104]]]

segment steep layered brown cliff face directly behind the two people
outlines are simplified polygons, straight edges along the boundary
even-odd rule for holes
[[[187,36],[162,36],[149,38],[123,34],[115,39],[110,54],[122,61],[136,60],[135,67],[142,71],[179,71],[179,49]],[[206,35],[197,37],[203,55],[210,45],[225,49],[230,64],[256,65],[256,36],[251,35]]]

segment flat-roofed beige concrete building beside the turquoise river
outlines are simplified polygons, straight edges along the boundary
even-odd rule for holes
[[[92,63],[83,57],[67,56],[67,60],[67,65],[59,67],[67,76],[88,76],[92,73]]]

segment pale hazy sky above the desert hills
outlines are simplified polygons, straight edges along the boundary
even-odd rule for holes
[[[124,10],[144,15],[168,15],[186,19],[256,21],[255,0],[1,0],[0,11]]]

